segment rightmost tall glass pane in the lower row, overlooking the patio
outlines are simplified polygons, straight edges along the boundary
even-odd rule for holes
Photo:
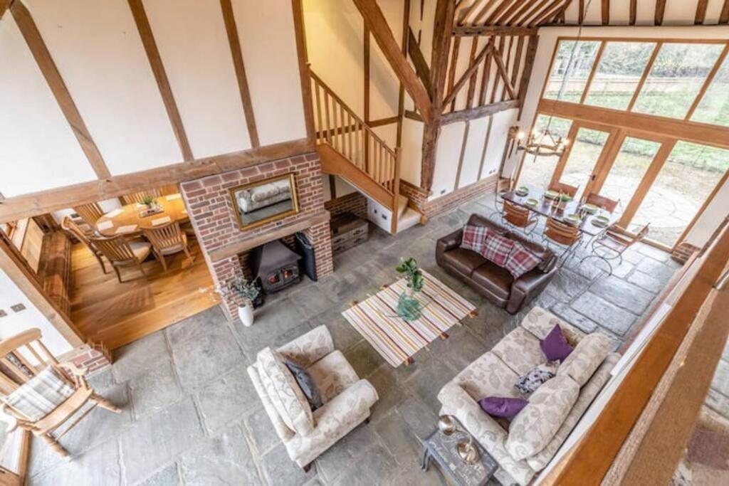
[[[674,246],[729,169],[729,150],[679,141],[631,221],[648,238]]]

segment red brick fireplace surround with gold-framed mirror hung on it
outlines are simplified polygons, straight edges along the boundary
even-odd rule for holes
[[[251,230],[240,230],[228,189],[287,173],[295,176],[299,213]],[[290,243],[292,235],[299,231],[313,245],[319,278],[334,270],[330,215],[324,209],[321,165],[315,152],[187,181],[181,187],[190,222],[216,286],[225,286],[238,275],[252,278],[249,251],[272,240]],[[235,318],[238,299],[225,299],[224,304],[228,318]]]

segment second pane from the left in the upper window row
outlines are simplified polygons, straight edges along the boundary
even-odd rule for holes
[[[628,109],[655,42],[608,42],[602,52],[585,103]]]

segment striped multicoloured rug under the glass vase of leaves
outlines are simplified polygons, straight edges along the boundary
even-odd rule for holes
[[[425,286],[416,297],[425,305],[416,321],[397,315],[397,300],[407,289],[405,278],[378,291],[342,315],[393,367],[408,361],[429,342],[461,319],[475,315],[476,307],[443,282],[423,270]]]

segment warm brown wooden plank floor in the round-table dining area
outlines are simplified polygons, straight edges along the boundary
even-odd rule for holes
[[[71,251],[71,320],[88,340],[114,349],[217,305],[200,247],[194,241],[191,246],[194,262],[184,253],[167,256],[164,273],[150,256],[143,264],[147,279],[139,270],[122,268],[124,282],[119,283],[108,262],[104,275],[90,251],[77,243]]]

